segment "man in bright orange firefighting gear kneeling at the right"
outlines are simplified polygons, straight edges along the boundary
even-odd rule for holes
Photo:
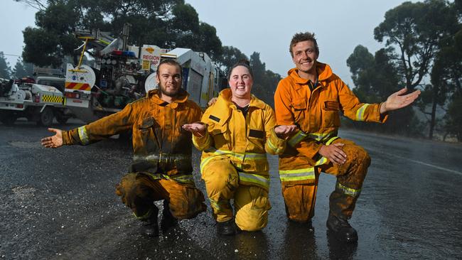
[[[279,82],[274,94],[277,124],[298,126],[279,156],[279,176],[289,220],[308,222],[314,215],[320,172],[337,177],[330,196],[328,230],[341,241],[358,240],[348,220],[355,209],[370,157],[361,146],[340,139],[340,112],[356,121],[387,120],[387,112],[406,107],[420,94],[390,95],[380,104],[361,103],[329,65],[318,62],[313,33],[297,33],[289,51],[295,68]]]

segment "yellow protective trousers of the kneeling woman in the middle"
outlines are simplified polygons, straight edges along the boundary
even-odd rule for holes
[[[229,158],[217,157],[202,170],[202,178],[217,222],[232,220],[230,200],[234,199],[235,222],[245,231],[257,231],[267,226],[268,192],[257,185],[242,185],[239,174]]]

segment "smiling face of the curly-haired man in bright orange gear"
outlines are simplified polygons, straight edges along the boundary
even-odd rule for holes
[[[316,52],[316,46],[312,40],[304,40],[299,43],[296,43],[292,47],[292,53],[294,57],[295,66],[299,69],[299,73],[302,74],[316,74],[316,60],[318,59],[318,54]]]

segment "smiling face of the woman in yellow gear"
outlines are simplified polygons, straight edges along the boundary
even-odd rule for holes
[[[237,66],[232,69],[229,83],[233,98],[250,99],[250,90],[252,90],[254,80],[247,67]]]

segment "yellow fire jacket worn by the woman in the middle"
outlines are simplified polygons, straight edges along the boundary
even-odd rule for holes
[[[202,120],[205,136],[193,136],[193,143],[203,151],[201,171],[214,159],[230,159],[239,173],[240,183],[269,189],[267,152],[279,154],[286,141],[274,132],[274,111],[252,95],[249,112],[242,112],[231,102],[231,90],[222,90],[217,102],[205,110]]]

